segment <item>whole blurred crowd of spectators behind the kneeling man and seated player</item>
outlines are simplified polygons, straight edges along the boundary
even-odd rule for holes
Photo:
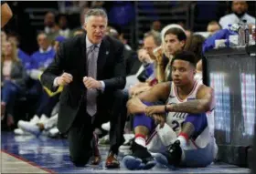
[[[70,29],[67,15],[57,17],[53,12],[48,12],[44,18],[45,27],[37,34],[38,49],[31,55],[19,47],[20,36],[1,31],[1,118],[4,128],[15,130],[18,135],[43,130],[49,130],[51,136],[58,135],[56,122],[61,88],[56,93],[50,92],[41,86],[40,75],[58,53],[59,44],[65,39],[84,34],[86,12],[91,7],[102,7],[103,4],[95,2],[89,6],[87,2],[80,2],[68,8],[66,4],[59,3],[61,13],[80,10],[80,26]],[[238,23],[240,17],[245,18],[250,27],[255,25],[255,18],[246,14],[246,2],[233,2],[232,5],[232,14],[221,17],[219,22],[209,22],[205,32],[200,33],[185,29],[182,23],[163,26],[161,21],[155,20],[149,31],[144,33],[142,42],[138,41],[140,46],[136,50],[128,45],[123,33],[114,26],[108,26],[106,35],[115,37],[125,46],[123,55],[127,83],[123,90],[132,97],[157,83],[172,80],[169,65],[179,50],[191,51],[196,55],[196,78],[202,81],[202,46],[205,40],[229,24]],[[103,137],[109,129],[109,123],[103,124],[98,134]],[[126,133],[131,133],[129,124]],[[101,139],[102,143],[107,143],[108,136]]]

